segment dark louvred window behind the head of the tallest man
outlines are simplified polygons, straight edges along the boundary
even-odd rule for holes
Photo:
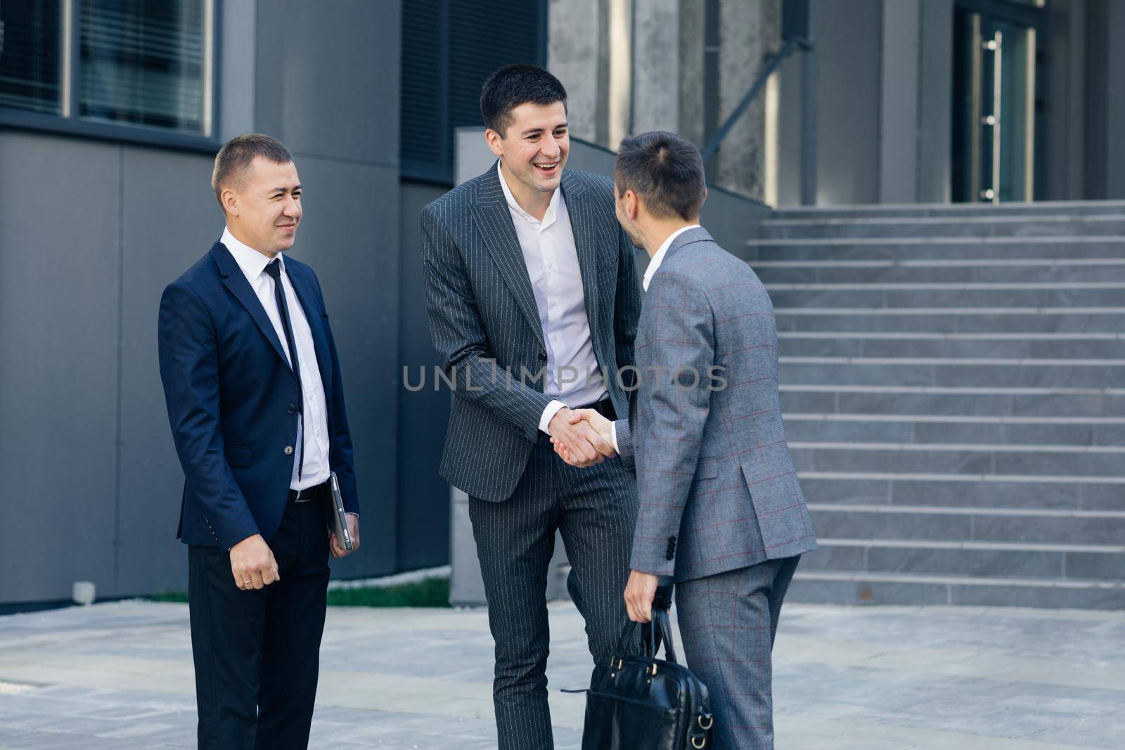
[[[405,177],[452,183],[453,128],[480,126],[480,85],[497,67],[547,61],[543,0],[403,3],[399,150]]]

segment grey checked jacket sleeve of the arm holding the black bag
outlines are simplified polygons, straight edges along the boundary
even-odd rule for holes
[[[646,370],[636,396],[646,423],[633,423],[640,509],[630,564],[673,576],[676,535],[711,408],[706,378],[714,362],[714,322],[702,286],[669,271],[652,278],[645,305]]]

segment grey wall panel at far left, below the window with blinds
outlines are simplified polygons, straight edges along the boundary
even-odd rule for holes
[[[114,579],[120,148],[0,134],[0,602]]]

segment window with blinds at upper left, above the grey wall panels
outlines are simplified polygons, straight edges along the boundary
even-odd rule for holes
[[[87,127],[210,137],[214,6],[0,0],[0,115],[22,110],[10,116],[78,132],[97,123]],[[61,119],[35,119],[43,115]]]

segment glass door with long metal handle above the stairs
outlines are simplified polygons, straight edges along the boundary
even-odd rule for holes
[[[1034,200],[1042,128],[1042,7],[958,3],[954,16],[953,200]],[[981,6],[987,6],[986,8]]]

